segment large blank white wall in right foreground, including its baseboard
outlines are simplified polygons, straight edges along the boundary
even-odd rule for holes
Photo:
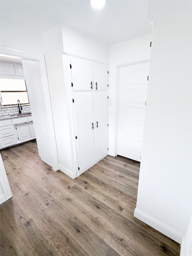
[[[153,19],[135,216],[181,242],[191,215],[191,2],[149,1]]]

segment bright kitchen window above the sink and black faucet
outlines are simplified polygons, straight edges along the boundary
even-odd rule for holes
[[[24,79],[0,78],[0,90],[3,107],[17,105],[17,100],[22,105],[29,104],[26,82]]]

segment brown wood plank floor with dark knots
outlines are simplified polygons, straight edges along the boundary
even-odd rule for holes
[[[1,155],[13,193],[1,204],[1,256],[179,256],[134,218],[138,162],[107,156],[73,180],[40,160],[35,141]]]

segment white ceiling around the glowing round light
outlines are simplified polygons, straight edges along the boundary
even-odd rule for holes
[[[94,10],[89,0],[1,0],[1,20],[45,32],[58,23],[77,29],[108,45],[150,34],[146,0],[107,0]]]

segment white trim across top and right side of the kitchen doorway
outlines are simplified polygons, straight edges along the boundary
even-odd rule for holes
[[[55,139],[55,129],[54,129],[54,123],[53,123],[53,116],[52,116],[52,107],[51,107],[51,99],[50,99],[50,93],[49,93],[49,84],[48,84],[48,78],[47,78],[47,72],[46,72],[46,64],[45,64],[45,56],[43,54],[39,53],[32,53],[27,52],[23,50],[17,50],[10,47],[0,47],[0,54],[10,56],[12,58],[19,57],[23,60],[29,60],[29,61],[35,61],[39,62],[40,64],[40,71],[42,75],[42,84],[43,84],[43,94],[45,98],[45,109],[46,114],[48,116],[48,122],[49,122],[49,136],[51,138],[51,149],[52,149],[52,156],[53,156],[53,163],[52,163],[52,169],[54,171],[59,170],[59,162],[58,162],[58,154],[57,154],[57,145],[56,145],[56,139]]]

